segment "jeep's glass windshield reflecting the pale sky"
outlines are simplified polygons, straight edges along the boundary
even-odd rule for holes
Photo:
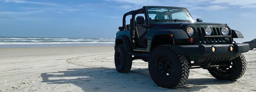
[[[150,23],[159,22],[194,22],[185,8],[146,7]]]

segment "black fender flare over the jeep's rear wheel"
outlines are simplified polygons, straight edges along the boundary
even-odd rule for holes
[[[118,39],[121,39],[123,41],[123,45],[125,46],[126,51],[132,51],[133,50],[128,36],[119,35],[119,36],[115,37],[115,45],[119,45],[119,43],[117,42]]]

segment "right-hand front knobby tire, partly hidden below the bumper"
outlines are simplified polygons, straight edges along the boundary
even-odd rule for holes
[[[231,64],[232,63],[232,64]],[[230,68],[230,66],[232,66]],[[212,67],[208,71],[218,80],[236,81],[241,78],[246,70],[246,61],[243,54],[230,61],[227,67]]]

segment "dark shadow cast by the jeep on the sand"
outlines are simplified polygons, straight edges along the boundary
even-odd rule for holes
[[[147,69],[133,69],[141,71]],[[206,85],[230,84],[229,81],[216,80],[215,78],[189,78],[185,85],[178,89],[158,87],[150,77],[133,72],[119,73],[108,68],[81,68],[67,69],[66,71],[47,72],[41,74],[47,85],[73,84],[83,91],[199,91],[207,88]],[[193,75],[191,75],[193,76]],[[62,85],[62,86],[63,86]],[[66,87],[66,91],[72,91]]]

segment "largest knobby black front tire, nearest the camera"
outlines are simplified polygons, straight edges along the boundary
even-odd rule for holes
[[[150,76],[160,87],[178,88],[185,84],[189,76],[189,63],[187,61],[185,56],[176,54],[174,48],[168,45],[157,46],[151,52],[148,61]],[[170,66],[171,72],[168,71],[166,65]]]

